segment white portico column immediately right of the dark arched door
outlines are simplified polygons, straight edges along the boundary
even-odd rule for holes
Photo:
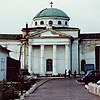
[[[57,69],[56,69],[56,45],[53,45],[53,75],[57,75]]]

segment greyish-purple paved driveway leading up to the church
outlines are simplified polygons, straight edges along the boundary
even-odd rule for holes
[[[100,97],[89,93],[75,78],[70,78],[50,80],[24,100],[100,100]]]

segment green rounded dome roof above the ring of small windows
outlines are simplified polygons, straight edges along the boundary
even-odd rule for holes
[[[35,18],[41,18],[41,17],[64,17],[70,20],[70,18],[60,9],[56,8],[46,8],[40,11],[35,17]]]

